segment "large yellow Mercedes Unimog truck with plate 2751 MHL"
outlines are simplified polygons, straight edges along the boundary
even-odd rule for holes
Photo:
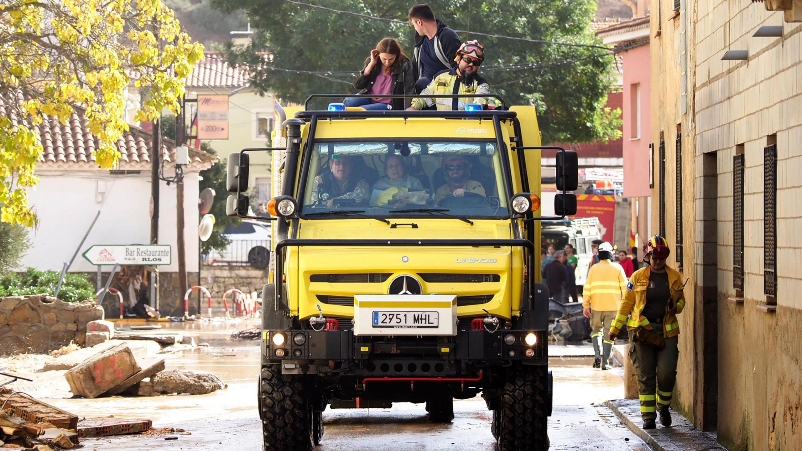
[[[559,216],[539,217],[534,108],[491,96],[500,108],[371,112],[312,95],[284,121],[286,147],[229,156],[227,213],[248,217],[249,153],[274,155],[265,449],[313,449],[327,407],[425,403],[447,423],[454,399],[477,395],[499,449],[548,448],[536,243],[541,220],[575,213],[577,155],[559,149]]]

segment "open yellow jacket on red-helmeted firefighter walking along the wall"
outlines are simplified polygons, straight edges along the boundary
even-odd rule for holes
[[[593,265],[595,267],[596,265]],[[677,313],[680,313],[685,308],[685,296],[683,295],[683,276],[677,270],[666,266],[668,273],[668,285],[671,287],[671,299],[677,304]],[[646,288],[649,286],[649,275],[651,274],[651,266],[646,265],[641,269],[635,271],[630,277],[630,282],[626,284],[626,294],[621,303],[621,308],[618,309],[618,315],[613,320],[610,332],[618,334],[618,331],[624,327],[626,322],[626,330],[630,331],[638,326],[651,329],[652,325],[649,320],[641,315],[643,307],[646,307]],[[627,321],[627,315],[632,314],[630,320]],[[663,336],[673,337],[679,335],[679,322],[677,315],[666,313],[662,319]]]

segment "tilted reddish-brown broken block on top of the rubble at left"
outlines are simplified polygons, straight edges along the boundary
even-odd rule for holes
[[[140,372],[128,344],[119,344],[84,360],[64,373],[71,392],[95,398]]]

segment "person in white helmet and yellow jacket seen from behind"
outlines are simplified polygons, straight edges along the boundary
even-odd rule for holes
[[[582,307],[585,318],[590,319],[590,341],[593,343],[593,368],[608,368],[612,340],[608,339],[621,299],[626,291],[626,275],[624,269],[613,260],[613,245],[602,242],[598,246],[599,262],[590,268],[585,288],[582,291]],[[604,335],[602,335],[602,329]],[[599,339],[603,340],[603,351],[599,350]],[[600,355],[601,354],[601,355]]]

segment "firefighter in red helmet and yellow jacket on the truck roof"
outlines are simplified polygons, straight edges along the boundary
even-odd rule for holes
[[[461,111],[467,104],[488,105],[490,93],[488,82],[479,75],[479,66],[484,61],[484,47],[476,40],[468,41],[456,52],[456,67],[435,75],[431,83],[420,92],[421,95],[480,95],[480,97],[454,97],[425,99],[416,97],[407,110],[422,110],[435,105],[439,111]]]

